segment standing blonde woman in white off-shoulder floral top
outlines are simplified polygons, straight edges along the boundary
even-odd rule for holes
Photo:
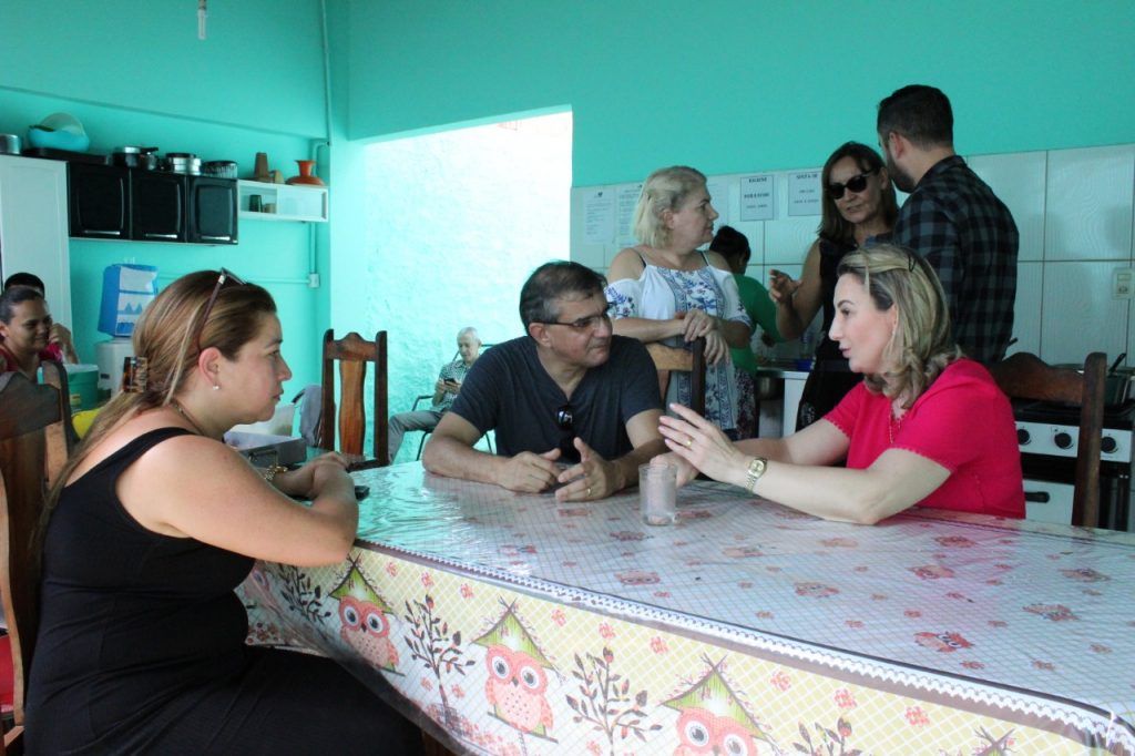
[[[733,432],[737,383],[729,347],[748,344],[753,322],[725,259],[698,250],[713,240],[716,219],[704,174],[684,166],[650,174],[634,210],[641,244],[615,255],[607,300],[621,336],[669,346],[705,337],[706,418]],[[689,405],[688,373],[675,373],[665,400]]]

